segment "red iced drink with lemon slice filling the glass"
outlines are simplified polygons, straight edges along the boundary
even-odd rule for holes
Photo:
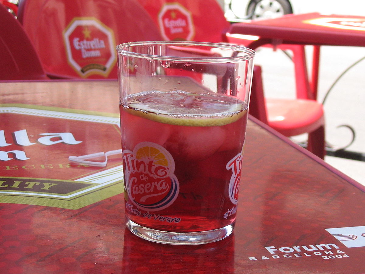
[[[234,222],[245,103],[218,94],[146,91],[128,95],[120,115],[130,220],[172,232]]]

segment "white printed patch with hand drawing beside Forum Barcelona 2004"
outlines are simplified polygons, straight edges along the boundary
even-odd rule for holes
[[[365,246],[365,225],[360,227],[326,228],[326,231],[346,247]]]

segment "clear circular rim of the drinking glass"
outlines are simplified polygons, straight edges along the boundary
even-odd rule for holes
[[[171,45],[171,46],[206,46],[221,50],[230,50],[237,53],[245,53],[245,55],[236,55],[236,56],[222,56],[222,57],[214,57],[214,56],[199,56],[199,57],[191,57],[191,56],[164,56],[164,55],[154,55],[154,54],[145,54],[145,53],[136,53],[128,50],[130,46],[148,46],[148,45]],[[211,43],[211,42],[194,42],[194,41],[140,41],[140,42],[127,42],[122,43],[116,46],[116,50],[119,54],[130,56],[130,57],[138,57],[145,59],[153,59],[153,60],[167,60],[167,61],[193,61],[193,62],[237,62],[237,61],[246,61],[253,59],[255,56],[255,51],[253,49],[249,49],[248,47],[231,45],[228,43]]]

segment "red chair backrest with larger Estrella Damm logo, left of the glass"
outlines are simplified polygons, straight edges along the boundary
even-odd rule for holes
[[[134,0],[22,0],[18,14],[55,78],[116,79],[116,45],[162,39]]]

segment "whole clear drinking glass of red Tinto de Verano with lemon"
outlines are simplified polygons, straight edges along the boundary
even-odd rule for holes
[[[127,228],[165,244],[233,232],[254,51],[203,42],[117,46]]]

